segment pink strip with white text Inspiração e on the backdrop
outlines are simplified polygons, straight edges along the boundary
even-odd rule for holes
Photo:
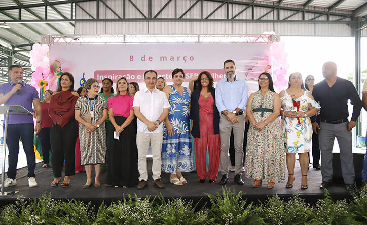
[[[190,78],[199,75],[205,69],[188,69],[185,71],[185,82],[189,82]],[[104,78],[112,79],[115,83],[120,77],[126,77],[129,82],[144,82],[144,72],[146,70],[96,70],[94,71],[94,79],[102,83]],[[167,82],[172,80],[172,70],[155,70],[158,77],[164,77]],[[214,82],[226,77],[223,69],[208,69],[212,75]]]

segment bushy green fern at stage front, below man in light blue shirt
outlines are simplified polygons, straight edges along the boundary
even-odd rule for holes
[[[231,189],[222,188],[222,195],[206,194],[212,204],[208,216],[212,224],[265,224],[256,214],[252,202],[246,207],[242,192],[238,194]]]

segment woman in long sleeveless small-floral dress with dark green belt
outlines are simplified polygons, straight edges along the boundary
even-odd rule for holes
[[[274,189],[276,183],[285,179],[283,134],[278,119],[281,102],[269,73],[260,74],[258,83],[259,91],[250,95],[246,107],[250,120],[246,177],[254,179],[254,188],[259,188],[264,180],[268,189]]]

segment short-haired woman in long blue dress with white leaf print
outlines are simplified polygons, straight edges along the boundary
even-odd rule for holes
[[[184,74],[182,69],[173,70],[173,85],[163,89],[171,108],[163,126],[162,171],[171,173],[170,182],[174,185],[186,184],[181,172],[193,170],[189,122],[191,92],[182,86]]]

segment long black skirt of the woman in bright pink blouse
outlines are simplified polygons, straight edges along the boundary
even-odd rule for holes
[[[126,118],[115,116],[117,125],[121,126]],[[120,133],[120,140],[114,139],[115,127],[111,125],[108,136],[109,152],[107,154],[106,184],[117,186],[135,186],[139,182],[137,168],[138,153],[136,147],[136,126],[131,122]]]

